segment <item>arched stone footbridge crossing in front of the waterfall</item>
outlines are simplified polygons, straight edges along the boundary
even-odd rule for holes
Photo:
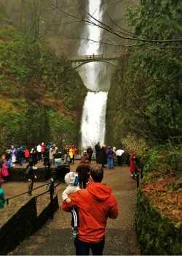
[[[120,56],[119,54],[109,54],[109,55],[92,54],[92,55],[84,55],[84,56],[68,56],[68,61],[71,61],[74,69],[78,69],[84,64],[95,62],[95,61],[106,62],[108,64],[116,66],[119,56]]]

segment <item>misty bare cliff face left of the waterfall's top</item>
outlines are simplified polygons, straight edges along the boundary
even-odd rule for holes
[[[50,1],[50,3],[55,1]],[[74,15],[84,15],[87,0],[58,1],[58,7]],[[64,14],[47,0],[1,0],[0,12],[28,34],[38,30],[38,37],[47,42],[57,53],[71,55],[79,48],[83,24]],[[37,24],[36,24],[37,23]],[[39,23],[39,24],[38,24]]]

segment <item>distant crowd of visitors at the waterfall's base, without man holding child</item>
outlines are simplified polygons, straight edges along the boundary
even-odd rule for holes
[[[95,149],[95,150],[94,150]],[[100,164],[101,167],[105,168],[106,164],[108,168],[113,169],[116,165],[129,165],[129,154],[124,152],[122,149],[116,149],[116,147],[111,148],[108,146],[106,148],[105,145],[100,146],[98,142],[94,149],[92,146],[88,146],[87,150],[83,151],[81,156],[81,162],[79,167],[77,167],[77,172],[80,171],[80,165],[84,165],[84,168],[87,169],[86,165],[92,164],[92,155],[95,151],[96,163]],[[28,186],[28,189],[31,190],[33,187],[33,178],[31,173],[33,173],[33,166],[36,166],[38,162],[42,162],[43,165],[47,168],[47,180],[50,181],[50,167],[52,165],[58,166],[62,164],[72,165],[74,164],[76,157],[77,149],[74,145],[65,146],[62,151],[59,150],[55,143],[48,143],[45,145],[44,143],[39,143],[38,146],[34,146],[29,151],[28,148],[23,148],[23,146],[15,148],[11,146],[7,148],[4,154],[1,154],[0,158],[0,187],[2,181],[6,181],[9,176],[9,168],[15,167],[15,164],[19,164],[23,166],[23,162],[27,162],[27,179],[31,180]],[[29,167],[29,168],[28,168]],[[32,168],[31,168],[32,167]],[[82,169],[82,168],[81,168]],[[130,159],[130,172],[131,176],[135,176],[135,151],[131,155]],[[31,173],[29,173],[31,170]],[[87,184],[87,175],[83,175],[82,171],[79,173],[79,181],[82,184],[82,187],[85,188]],[[30,192],[31,195],[31,192]]]

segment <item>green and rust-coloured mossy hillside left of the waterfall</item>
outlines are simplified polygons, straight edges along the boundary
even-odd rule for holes
[[[1,148],[75,140],[87,90],[71,64],[14,27],[0,45]]]

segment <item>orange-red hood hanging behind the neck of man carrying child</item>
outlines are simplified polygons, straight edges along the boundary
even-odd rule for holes
[[[98,201],[106,201],[111,195],[111,188],[102,183],[91,182],[87,190]]]

